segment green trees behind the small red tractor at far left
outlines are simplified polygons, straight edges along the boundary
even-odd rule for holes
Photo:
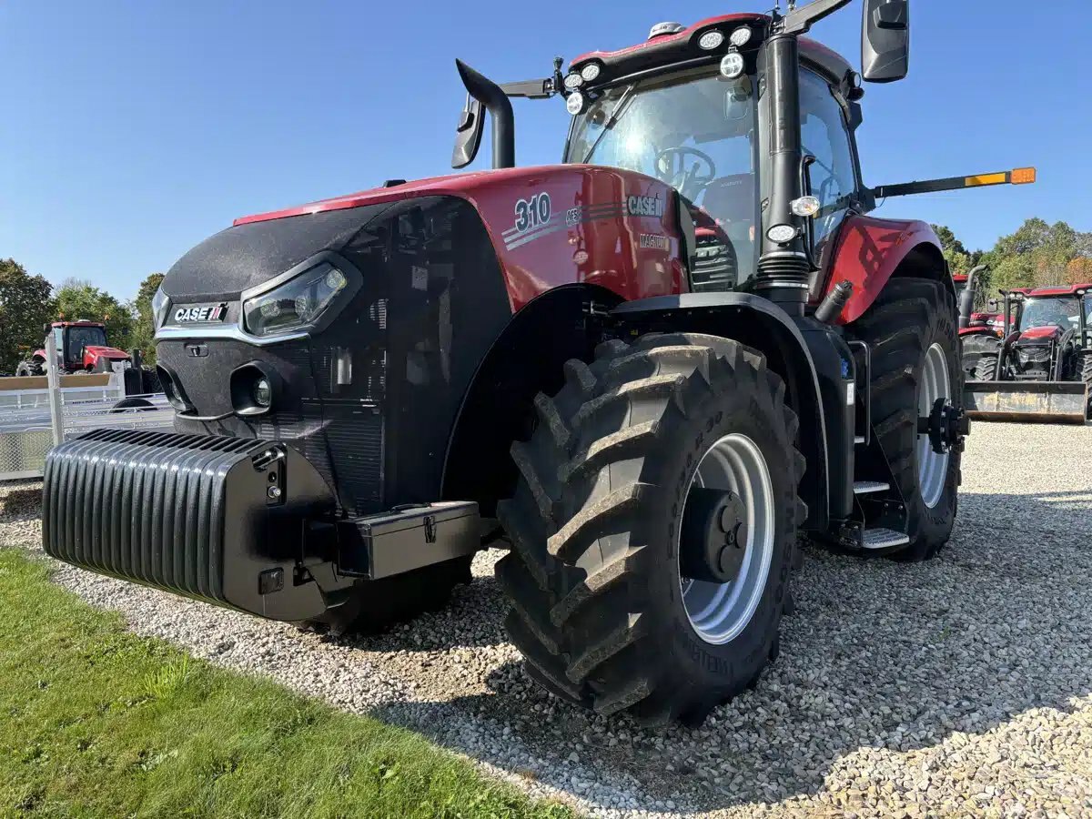
[[[43,325],[60,320],[100,321],[111,347],[140,349],[154,363],[152,297],[161,282],[163,274],[153,273],[141,282],[135,298],[121,301],[81,278],[67,278],[55,288],[14,259],[0,259],[0,373],[14,372],[41,347]]]

